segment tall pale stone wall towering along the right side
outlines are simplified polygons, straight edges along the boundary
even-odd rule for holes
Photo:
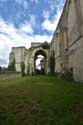
[[[66,1],[51,46],[55,71],[72,68],[74,80],[83,81],[83,0]]]

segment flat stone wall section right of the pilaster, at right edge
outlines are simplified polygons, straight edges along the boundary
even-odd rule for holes
[[[83,4],[83,1],[80,0]],[[68,59],[69,68],[73,68],[76,81],[83,81],[83,38],[82,38],[82,8],[80,1],[72,0],[68,14]],[[83,31],[83,30],[82,30]]]

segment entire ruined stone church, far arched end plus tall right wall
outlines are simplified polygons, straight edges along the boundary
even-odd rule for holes
[[[20,71],[20,63],[24,61],[25,72],[29,66],[30,74],[32,71],[35,73],[34,56],[38,49],[46,55],[45,72],[48,74],[49,58],[54,51],[55,72],[72,70],[74,80],[83,81],[83,0],[66,0],[49,50],[44,50],[41,46],[35,47],[28,50],[24,47],[12,49],[10,62],[15,57],[17,71]]]

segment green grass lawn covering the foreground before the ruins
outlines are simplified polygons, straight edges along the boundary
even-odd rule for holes
[[[83,84],[48,76],[1,80],[0,125],[83,125]]]

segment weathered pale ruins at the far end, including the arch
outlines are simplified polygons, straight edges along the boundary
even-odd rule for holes
[[[44,49],[40,43],[32,43],[31,48],[13,47],[10,54],[10,64],[15,59],[17,72],[21,72],[21,63],[25,64],[26,74],[35,74],[35,54],[45,56],[45,74],[48,73],[48,49]]]

